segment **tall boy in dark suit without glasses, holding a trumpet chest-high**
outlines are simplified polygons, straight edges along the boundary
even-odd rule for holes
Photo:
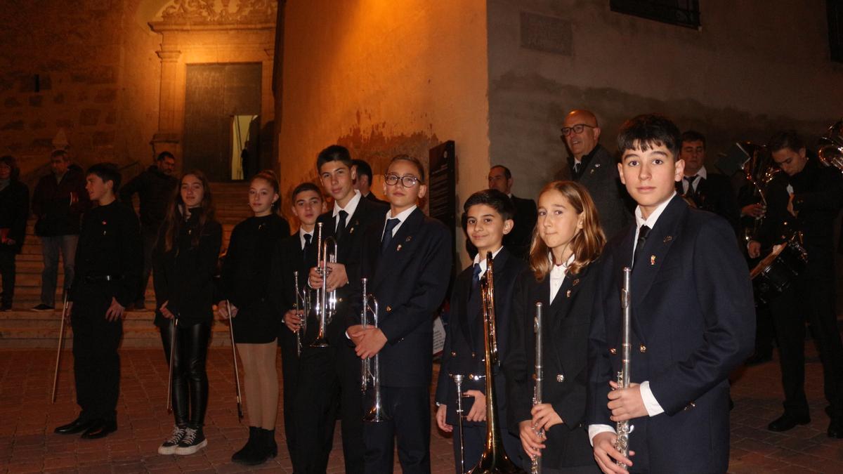
[[[308,320],[308,333],[299,359],[296,387],[295,430],[300,466],[296,472],[325,472],[332,444],[336,397],[339,396],[342,417],[342,454],[346,472],[363,471],[362,401],[360,397],[360,360],[345,336],[348,317],[349,282],[360,280],[360,250],[364,244],[363,230],[386,213],[386,207],[363,199],[353,188],[355,177],[348,150],[331,145],[319,153],[316,160],[322,187],[334,198],[334,207],[319,216],[323,242],[333,237],[337,242],[336,263],[328,263],[326,286],[336,291],[336,315],[327,327],[329,347],[310,347],[319,322]],[[319,241],[317,230],[317,243]],[[309,286],[321,288],[322,277],[316,272],[317,247],[308,252]],[[332,250],[332,245],[329,245]],[[307,408],[304,408],[307,407]]]

